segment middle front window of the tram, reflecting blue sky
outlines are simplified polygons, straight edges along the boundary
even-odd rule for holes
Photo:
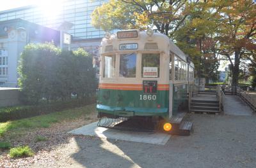
[[[119,76],[125,78],[136,77],[136,53],[127,53],[120,55]]]

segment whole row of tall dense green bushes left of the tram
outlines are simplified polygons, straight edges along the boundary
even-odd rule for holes
[[[95,93],[92,57],[83,49],[60,50],[51,43],[29,44],[21,55],[19,85],[27,102],[66,101]]]

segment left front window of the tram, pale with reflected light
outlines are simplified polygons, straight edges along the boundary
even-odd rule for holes
[[[115,55],[104,56],[104,78],[113,78],[115,74]]]

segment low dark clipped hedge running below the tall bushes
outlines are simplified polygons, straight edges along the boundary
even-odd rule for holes
[[[22,118],[29,118],[31,116],[45,115],[55,111],[64,109],[78,108],[88,104],[95,103],[95,97],[87,99],[72,99],[65,102],[52,102],[49,104],[39,104],[37,106],[13,106],[0,109],[0,122],[7,122],[9,120],[19,120]]]

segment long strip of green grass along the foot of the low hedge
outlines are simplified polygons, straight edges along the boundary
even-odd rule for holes
[[[13,136],[19,136],[22,131],[51,127],[52,123],[61,122],[63,120],[74,120],[81,117],[86,118],[86,114],[89,113],[96,113],[95,104],[83,106],[81,108],[58,111],[48,115],[34,116],[12,122],[0,123],[0,137],[6,135],[8,132],[13,134]]]

